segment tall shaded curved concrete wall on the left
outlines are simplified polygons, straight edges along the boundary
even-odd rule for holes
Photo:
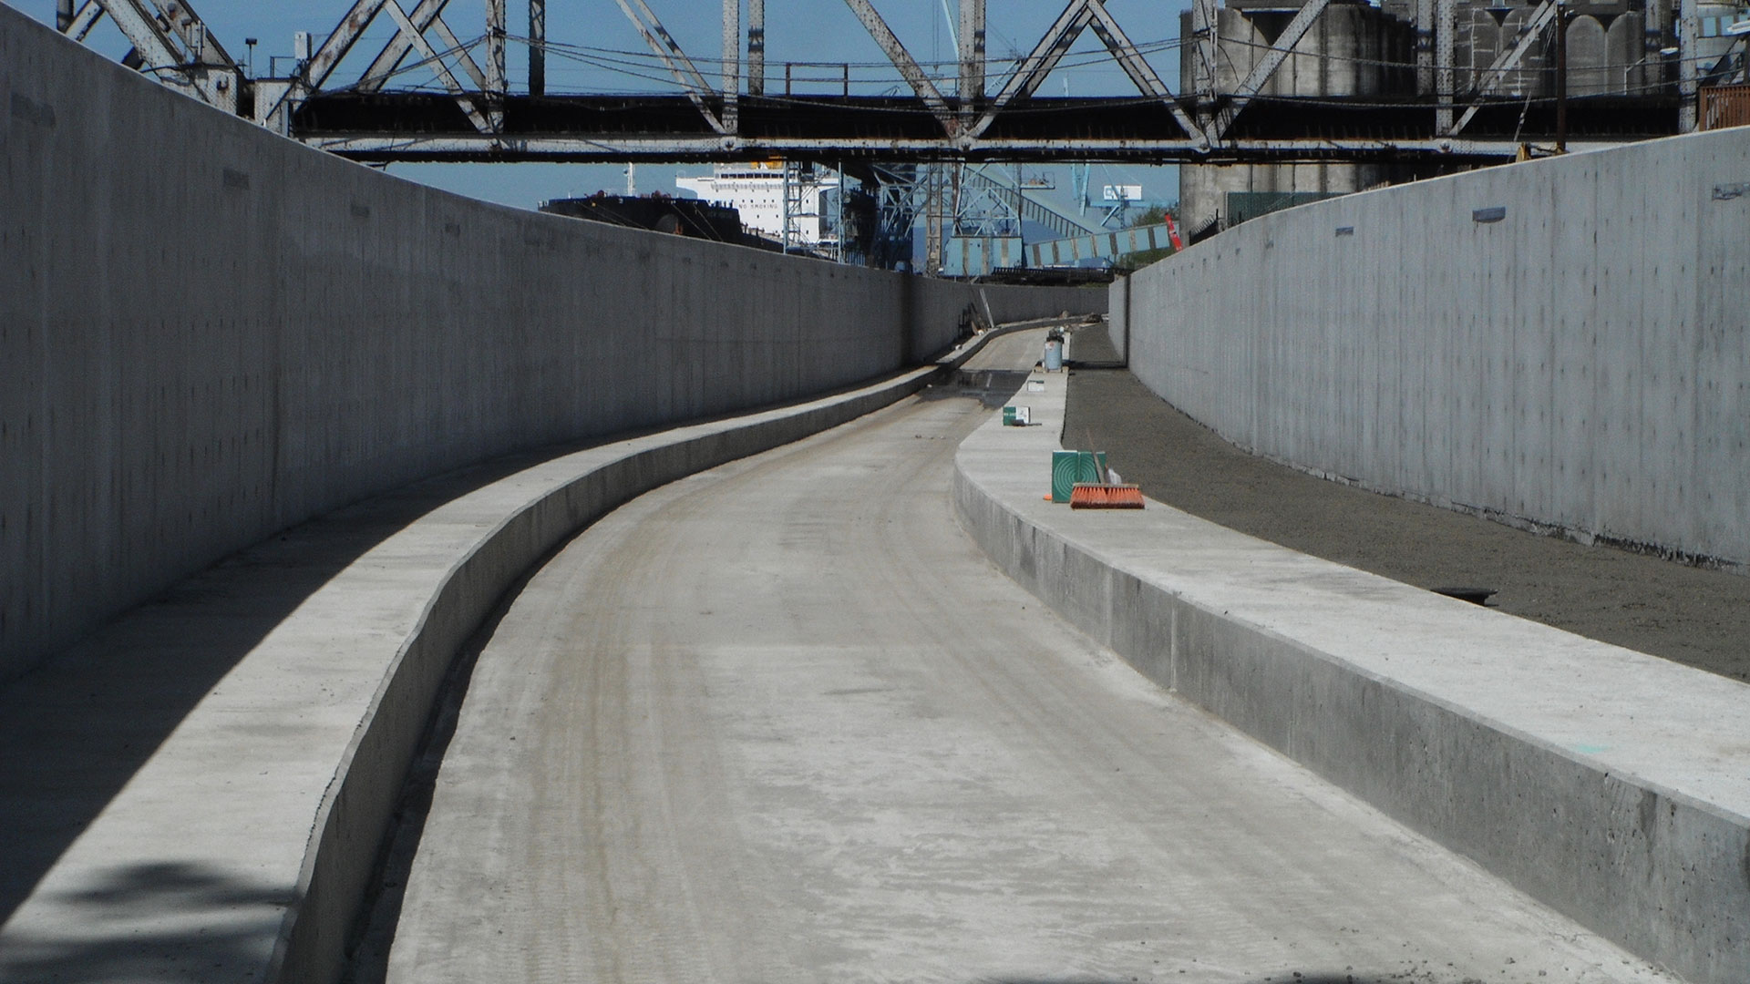
[[[1102,310],[502,208],[0,7],[0,679],[310,515]]]

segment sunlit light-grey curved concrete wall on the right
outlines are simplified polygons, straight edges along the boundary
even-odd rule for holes
[[[1115,317],[1150,389],[1256,453],[1741,569],[1746,159],[1726,130],[1307,205]]]

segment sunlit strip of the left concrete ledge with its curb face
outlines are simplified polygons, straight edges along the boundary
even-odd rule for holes
[[[336,980],[446,672],[532,564],[658,485],[919,392],[998,334],[863,389],[522,467],[324,573],[52,860],[0,928],[0,977],[82,975],[80,954],[102,952],[130,979],[201,966],[203,979]],[[238,742],[245,718],[261,737]],[[247,902],[105,902],[117,858],[234,881]],[[238,930],[214,933],[214,919]]]

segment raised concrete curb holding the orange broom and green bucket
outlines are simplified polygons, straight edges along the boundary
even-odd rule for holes
[[[1041,376],[1036,376],[1041,378]],[[1631,952],[1750,980],[1750,686],[1169,506],[1041,501],[1064,376],[956,455],[962,525],[1155,683]],[[1115,462],[1122,469],[1122,462]]]

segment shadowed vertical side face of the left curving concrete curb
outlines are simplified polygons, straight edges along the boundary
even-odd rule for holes
[[[394,823],[401,784],[418,751],[455,653],[504,592],[542,555],[614,508],[668,481],[828,431],[892,404],[950,373],[987,341],[1032,322],[998,326],[947,352],[933,366],[802,406],[677,427],[648,438],[565,455],[488,485],[542,473],[525,496],[444,573],[415,630],[396,651],[324,795],[285,912],[268,980],[336,980],[346,944]]]

